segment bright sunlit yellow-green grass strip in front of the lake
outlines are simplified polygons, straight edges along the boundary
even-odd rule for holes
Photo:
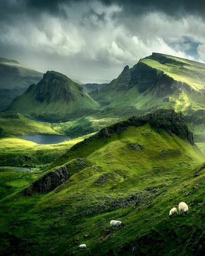
[[[59,144],[38,145],[32,141],[6,135],[0,138],[0,165],[35,166],[50,164],[85,137],[78,137]]]

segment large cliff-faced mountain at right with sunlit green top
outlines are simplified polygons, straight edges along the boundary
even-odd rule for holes
[[[117,79],[90,96],[104,106],[104,115],[110,117],[144,114],[158,108],[182,111],[197,138],[205,141],[203,63],[153,53],[131,69],[125,66]]]

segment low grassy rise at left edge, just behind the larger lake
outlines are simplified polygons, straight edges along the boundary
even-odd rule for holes
[[[3,135],[57,134],[51,124],[29,120],[21,114],[0,114]]]

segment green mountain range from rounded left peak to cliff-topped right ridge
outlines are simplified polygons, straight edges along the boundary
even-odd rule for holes
[[[98,113],[96,118],[125,118],[158,108],[182,111],[190,125],[197,121],[203,128],[205,64],[153,53],[132,68],[125,66],[117,79],[102,85],[81,86],[60,73],[47,72],[41,82],[31,85],[7,110],[69,120],[92,113]],[[201,131],[195,135],[205,139]]]

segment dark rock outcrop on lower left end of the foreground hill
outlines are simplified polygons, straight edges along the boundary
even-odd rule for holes
[[[67,181],[69,177],[69,166],[58,167],[54,171],[48,172],[44,176],[40,177],[37,181],[34,181],[29,187],[22,190],[22,194],[32,195],[35,192],[45,193],[52,191]]]

